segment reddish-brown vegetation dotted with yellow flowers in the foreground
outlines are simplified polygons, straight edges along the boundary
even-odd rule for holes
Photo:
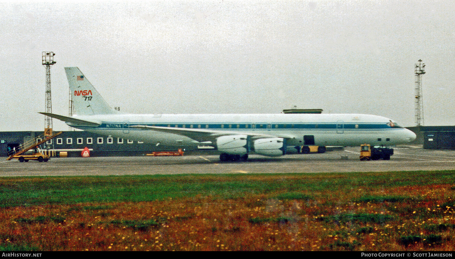
[[[450,188],[431,185],[307,193],[313,200],[280,200],[273,193],[235,200],[196,197],[5,208],[0,211],[0,245],[64,251],[453,251]],[[366,193],[408,198],[398,202],[355,200]],[[390,217],[375,222],[365,221],[362,215]]]

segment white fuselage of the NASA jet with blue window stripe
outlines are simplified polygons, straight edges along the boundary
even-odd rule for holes
[[[172,147],[194,148],[201,143],[168,132],[142,130],[134,126],[175,127],[288,137],[288,146],[394,146],[415,139],[414,132],[388,118],[366,114],[112,114],[75,116],[99,121],[100,126],[71,127],[101,135],[139,140]],[[392,123],[392,124],[391,124]],[[292,136],[292,137],[291,137]],[[304,136],[308,137],[305,143]]]

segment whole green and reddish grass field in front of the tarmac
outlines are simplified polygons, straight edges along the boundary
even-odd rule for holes
[[[1,250],[455,249],[455,171],[0,178]]]

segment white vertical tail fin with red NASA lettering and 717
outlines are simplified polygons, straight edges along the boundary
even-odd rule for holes
[[[77,115],[115,114],[117,113],[104,101],[95,87],[77,67],[65,67],[70,85],[74,112]]]

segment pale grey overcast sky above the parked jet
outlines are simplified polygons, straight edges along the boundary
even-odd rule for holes
[[[442,1],[1,2],[0,131],[68,114],[63,67],[78,66],[130,113],[279,113],[321,108],[454,125],[455,3]],[[67,130],[53,120],[54,130]]]

